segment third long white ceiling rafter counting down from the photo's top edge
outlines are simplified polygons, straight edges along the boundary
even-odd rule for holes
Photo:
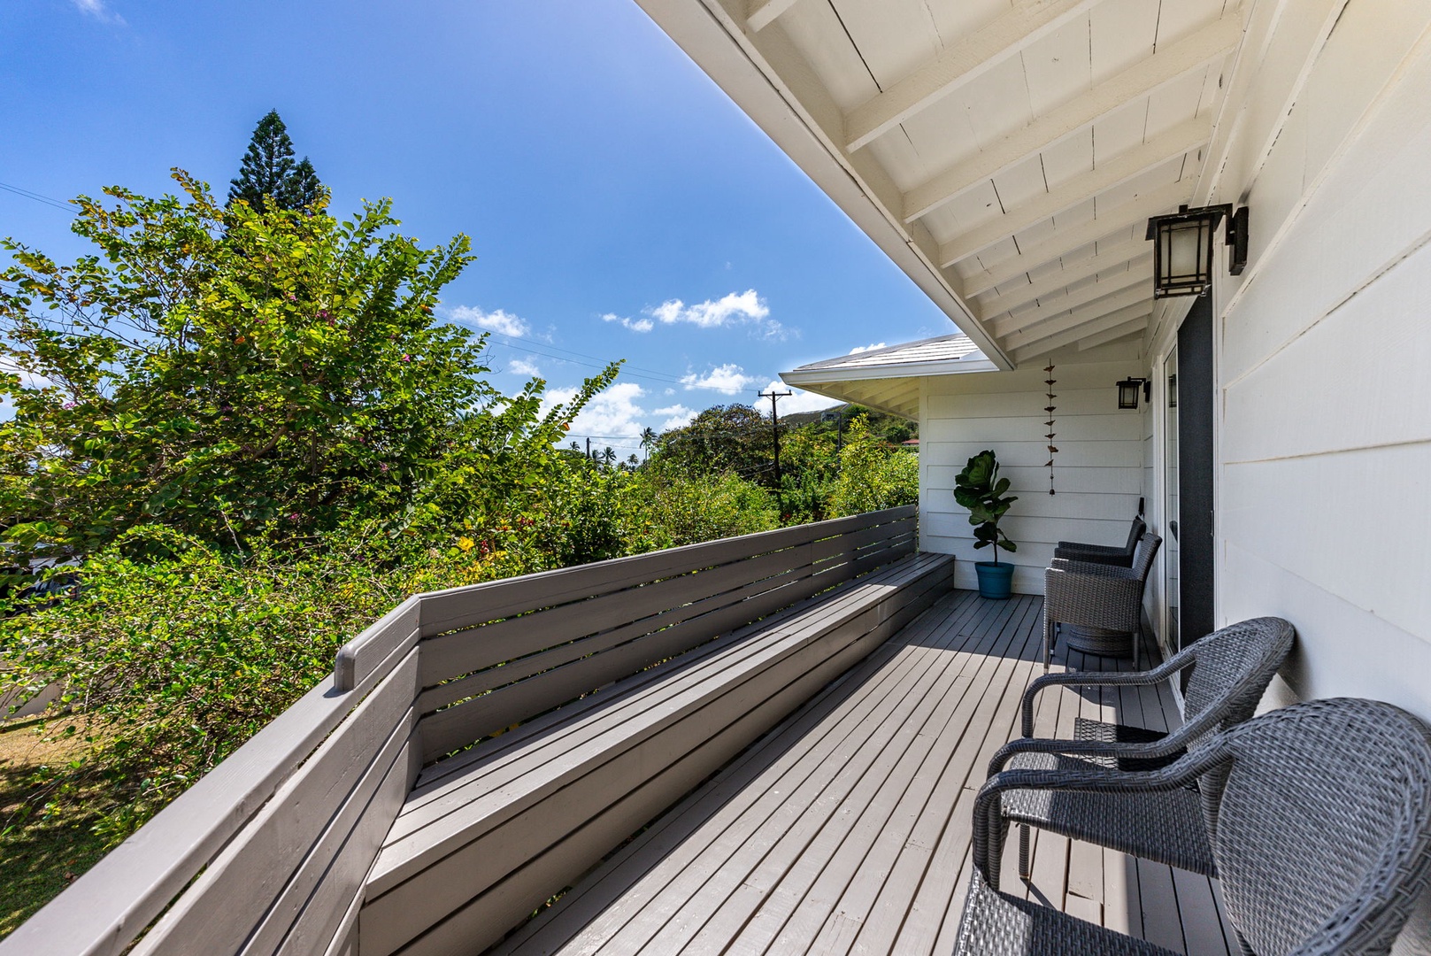
[[[1029,226],[1072,209],[1092,196],[1098,196],[1115,186],[1146,173],[1148,170],[1176,159],[1198,149],[1212,136],[1212,114],[1191,119],[1186,123],[1173,126],[1166,133],[1155,136],[1146,143],[1090,169],[1079,173],[1037,196],[1033,202],[1015,206],[1003,216],[976,226],[939,246],[939,265],[952,266],[962,259],[967,259],[976,252],[982,252],[996,242],[1003,242],[1012,235],[1023,232]]]

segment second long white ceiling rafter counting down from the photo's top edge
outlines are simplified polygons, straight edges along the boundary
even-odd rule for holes
[[[969,160],[910,189],[904,193],[904,222],[929,215],[954,196],[1068,139],[1113,110],[1226,54],[1241,39],[1242,19],[1226,16],[1185,40],[1158,50]]]

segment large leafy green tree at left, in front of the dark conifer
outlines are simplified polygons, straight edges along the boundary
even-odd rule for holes
[[[564,424],[615,375],[541,412],[482,376],[482,339],[435,323],[471,262],[424,249],[389,202],[346,222],[113,187],[77,203],[100,256],[11,239],[0,272],[0,515],[9,538],[89,552],[162,522],[220,547],[342,521],[495,514],[544,481]]]

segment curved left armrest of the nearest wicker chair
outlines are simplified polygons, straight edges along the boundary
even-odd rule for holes
[[[989,777],[975,797],[973,862],[992,889],[999,889],[999,859],[1003,856],[1003,800],[1006,790],[1069,790],[1083,793],[1155,793],[1193,783],[1212,767],[1231,759],[1219,740],[1188,753],[1162,770],[1005,770]]]

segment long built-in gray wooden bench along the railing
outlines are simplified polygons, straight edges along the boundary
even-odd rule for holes
[[[952,587],[916,554],[426,767],[373,864],[363,956],[477,953]]]

